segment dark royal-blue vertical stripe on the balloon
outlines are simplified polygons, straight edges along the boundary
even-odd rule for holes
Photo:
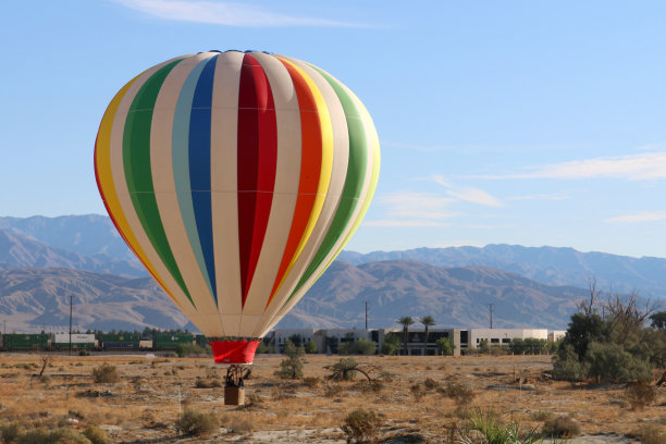
[[[212,202],[210,185],[210,124],[213,79],[218,55],[211,58],[203,66],[195,88],[189,115],[189,184],[197,232],[201,252],[208,271],[208,280],[215,304],[218,286],[215,285],[215,258],[213,254]]]

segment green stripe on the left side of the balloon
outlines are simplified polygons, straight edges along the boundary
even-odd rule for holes
[[[155,198],[150,168],[150,127],[155,102],[166,75],[182,60],[169,63],[152,74],[132,101],[123,133],[123,163],[132,203],[144,231],[169,272],[194,306],[164,233]]]

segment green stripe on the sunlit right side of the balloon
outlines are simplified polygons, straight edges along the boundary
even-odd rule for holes
[[[349,223],[353,223],[351,215],[354,210],[358,206],[358,199],[362,193],[363,178],[366,177],[368,170],[368,139],[366,137],[366,127],[363,121],[360,118],[360,112],[357,108],[356,102],[345,91],[340,82],[331,77],[328,73],[320,70],[317,66],[310,65],[318,73],[320,73],[326,82],[333,87],[335,95],[340,99],[345,118],[347,120],[347,128],[349,133],[349,164],[347,166],[347,176],[345,177],[345,185],[343,187],[342,197],[333,217],[333,222],[329,227],[329,232],[324,236],[324,239],[317,250],[314,258],[308,266],[307,270],[300,278],[298,285],[285,301],[288,304],[289,299],[294,297],[296,293],[303,287],[303,285],[310,279],[312,273],[321,266],[323,260],[326,258],[329,252],[333,249],[343,232]]]

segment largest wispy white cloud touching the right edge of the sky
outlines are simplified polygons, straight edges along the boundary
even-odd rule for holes
[[[574,160],[528,169],[522,173],[474,176],[477,178],[593,178],[615,177],[630,181],[666,178],[666,152]]]

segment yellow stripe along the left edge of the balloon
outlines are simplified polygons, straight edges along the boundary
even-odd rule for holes
[[[125,86],[123,86],[123,88],[115,95],[115,97],[113,98],[113,100],[111,100],[111,103],[107,108],[104,116],[102,118],[102,121],[99,125],[99,132],[97,133],[95,169],[97,170],[97,175],[99,177],[99,186],[103,193],[109,213],[113,218],[114,222],[118,225],[118,229],[121,231],[125,240],[130,245],[130,248],[132,248],[132,250],[136,254],[139,260],[148,269],[150,274],[152,274],[152,276],[160,283],[162,288],[164,288],[169,296],[171,296],[171,298],[178,306],[178,308],[182,308],[177,299],[171,294],[162,279],[158,275],[155,267],[148,260],[146,252],[144,251],[138,240],[136,239],[136,236],[132,232],[132,229],[127,223],[127,219],[125,218],[125,213],[118,198],[116,188],[113,183],[113,175],[111,173],[111,131],[113,130],[113,124],[115,122],[115,114],[118,112],[118,108],[121,101],[125,97],[125,94],[127,92],[132,84],[134,84],[136,79],[139,78],[144,73],[137,75]]]

